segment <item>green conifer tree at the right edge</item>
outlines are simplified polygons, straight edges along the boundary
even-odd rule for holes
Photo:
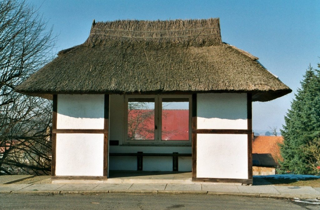
[[[320,71],[309,66],[300,83],[281,130],[284,144],[280,145],[280,171],[314,174],[306,147],[320,135]]]

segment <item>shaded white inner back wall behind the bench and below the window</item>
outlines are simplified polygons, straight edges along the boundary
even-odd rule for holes
[[[109,140],[119,141],[109,146],[110,153],[188,153],[189,146],[132,146],[124,145],[124,95],[110,95]],[[179,171],[191,171],[191,157],[178,158]],[[109,170],[137,170],[137,157],[109,156]],[[172,171],[172,157],[143,157],[144,171]]]

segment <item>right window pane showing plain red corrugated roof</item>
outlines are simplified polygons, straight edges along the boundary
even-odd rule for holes
[[[162,99],[162,140],[189,140],[188,98]]]

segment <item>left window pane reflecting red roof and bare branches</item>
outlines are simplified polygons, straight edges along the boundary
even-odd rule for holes
[[[155,139],[154,98],[128,98],[128,139]]]

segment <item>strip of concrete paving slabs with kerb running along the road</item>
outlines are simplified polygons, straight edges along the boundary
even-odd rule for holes
[[[273,198],[320,198],[320,187],[170,183],[0,184],[0,193],[37,194],[216,194]]]

